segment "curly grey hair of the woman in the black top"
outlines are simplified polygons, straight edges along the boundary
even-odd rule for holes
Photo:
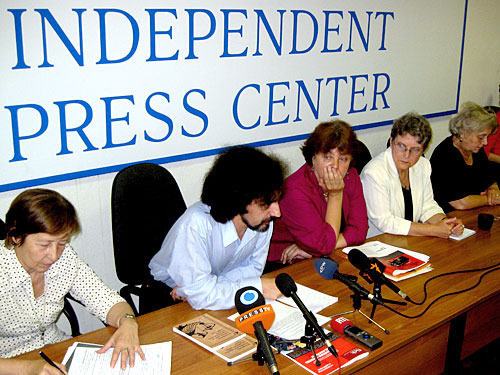
[[[450,120],[450,133],[454,136],[462,136],[467,133],[479,133],[491,128],[492,133],[498,128],[494,113],[485,110],[473,102],[465,102],[460,106],[458,113]]]

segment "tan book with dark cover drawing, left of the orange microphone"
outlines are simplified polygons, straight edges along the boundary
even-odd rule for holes
[[[174,332],[227,362],[240,359],[257,347],[257,341],[208,313],[177,324]]]

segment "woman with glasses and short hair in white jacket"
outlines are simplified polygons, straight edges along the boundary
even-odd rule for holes
[[[368,237],[392,233],[446,238],[463,232],[460,220],[447,218],[434,201],[431,166],[421,157],[431,136],[424,117],[407,113],[394,122],[389,148],[363,169]]]

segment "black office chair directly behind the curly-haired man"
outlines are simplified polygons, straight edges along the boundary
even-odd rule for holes
[[[111,219],[116,274],[127,284],[120,295],[136,315],[167,305],[161,302],[169,290],[154,281],[148,265],[185,210],[177,182],[159,165],[135,164],[121,170],[113,180]],[[132,294],[139,297],[138,311]]]

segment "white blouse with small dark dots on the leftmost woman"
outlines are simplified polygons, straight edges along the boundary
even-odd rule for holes
[[[70,293],[102,321],[118,302],[109,289],[68,244],[45,272],[44,293],[35,299],[33,284],[13,249],[0,241],[0,357],[9,358],[69,338],[55,324]],[[40,327],[45,329],[44,334]]]

